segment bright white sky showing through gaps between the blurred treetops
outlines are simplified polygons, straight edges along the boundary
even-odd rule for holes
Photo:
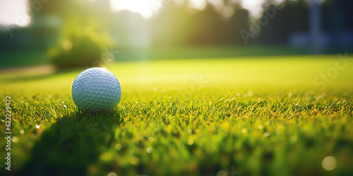
[[[163,6],[168,6],[168,1],[163,0],[110,0],[112,11],[128,10],[135,13],[140,13],[145,18],[150,18],[158,9]],[[183,0],[174,0],[181,2]],[[206,6],[206,1],[213,4],[217,10],[229,16],[233,13],[232,8],[226,7],[220,0],[190,0],[189,6],[199,10],[203,10]],[[261,5],[265,0],[240,0],[241,6],[250,11],[251,16],[259,17],[263,13]],[[276,0],[282,2],[284,0]],[[136,5],[138,4],[138,5]],[[0,1],[0,25],[17,25],[25,27],[30,24],[28,16],[27,0],[1,0]]]

